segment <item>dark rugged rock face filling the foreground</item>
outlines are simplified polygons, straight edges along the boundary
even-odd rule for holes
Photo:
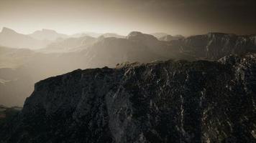
[[[0,142],[256,142],[256,56],[78,69],[35,84]]]

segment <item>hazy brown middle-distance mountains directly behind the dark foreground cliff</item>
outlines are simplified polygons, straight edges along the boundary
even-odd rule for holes
[[[125,38],[83,36],[57,39],[36,51],[1,46],[0,104],[22,106],[35,82],[74,69],[115,67],[126,61],[212,61],[230,54],[255,53],[255,50],[255,35],[209,33],[160,41],[139,31],[132,31]]]

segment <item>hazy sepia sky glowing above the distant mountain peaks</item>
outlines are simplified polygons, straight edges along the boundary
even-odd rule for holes
[[[256,34],[256,0],[0,0],[0,28]]]

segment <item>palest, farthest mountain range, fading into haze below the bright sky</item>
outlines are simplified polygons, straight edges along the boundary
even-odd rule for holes
[[[99,36],[125,38],[125,36],[114,33],[96,34],[93,32],[85,32],[81,34],[66,35],[51,29],[42,29],[35,31],[32,34],[19,34],[12,29],[3,27],[0,32],[0,45],[19,49],[45,49],[55,42],[70,38],[79,39],[84,36],[92,36],[96,38]]]

